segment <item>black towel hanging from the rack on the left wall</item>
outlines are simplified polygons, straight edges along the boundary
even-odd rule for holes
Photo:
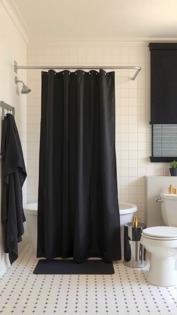
[[[18,258],[18,243],[24,233],[22,186],[26,179],[26,168],[20,137],[12,114],[3,120],[1,158],[3,163],[3,195],[1,222],[5,229],[4,252],[9,253],[12,263]]]

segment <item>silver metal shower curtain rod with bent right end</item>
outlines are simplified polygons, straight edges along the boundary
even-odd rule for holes
[[[141,70],[141,67],[139,66],[17,66],[17,62],[14,61],[14,72],[17,73],[17,69],[137,69],[136,73],[132,77],[132,80],[135,80],[137,77],[138,73]]]

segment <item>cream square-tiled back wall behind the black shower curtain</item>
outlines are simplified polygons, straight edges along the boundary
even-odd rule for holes
[[[140,66],[114,70],[116,88],[116,155],[119,201],[135,203],[144,220],[145,175],[168,175],[167,163],[150,163],[150,52],[148,43],[63,43],[31,44],[28,65],[52,66]],[[56,70],[60,71],[60,70]],[[41,70],[27,71],[27,201],[37,201],[39,134],[41,112]]]

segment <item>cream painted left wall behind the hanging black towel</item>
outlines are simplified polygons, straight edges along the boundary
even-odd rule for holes
[[[20,140],[26,162],[26,95],[22,95],[21,84],[14,83],[14,60],[26,65],[26,43],[9,14],[0,2],[0,100],[15,107],[15,121],[19,130]],[[20,70],[18,78],[26,82],[26,70]],[[0,119],[0,124],[1,124]],[[1,133],[1,126],[0,126]],[[1,139],[1,135],[0,135]],[[2,176],[2,172],[1,172]],[[2,182],[0,183],[2,192]],[[23,187],[23,202],[26,203],[26,182]],[[26,224],[20,247],[26,243]],[[9,266],[8,255],[3,252],[3,227],[0,224],[0,274]]]

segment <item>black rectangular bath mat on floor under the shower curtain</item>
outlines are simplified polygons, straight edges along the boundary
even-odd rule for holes
[[[54,259],[47,261],[40,259],[33,271],[34,274],[114,274],[112,261],[106,262],[101,259],[89,259],[83,263],[74,263],[73,260]]]

